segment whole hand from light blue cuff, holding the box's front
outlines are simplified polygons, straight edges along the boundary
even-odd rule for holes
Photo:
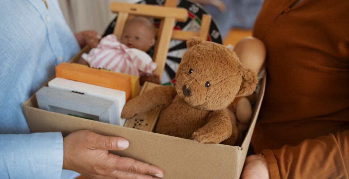
[[[129,143],[122,137],[99,135],[89,130],[79,130],[64,137],[63,169],[79,172],[91,179],[143,178],[163,176],[154,165],[120,157],[108,150],[124,150]]]

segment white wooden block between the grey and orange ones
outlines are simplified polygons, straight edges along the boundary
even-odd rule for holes
[[[122,119],[120,116],[122,108],[124,107],[126,102],[125,91],[105,88],[79,81],[63,79],[60,77],[56,77],[53,80],[49,81],[49,87],[65,91],[77,92],[87,96],[107,99],[115,102],[116,118],[111,118],[110,124],[124,126],[125,119]]]

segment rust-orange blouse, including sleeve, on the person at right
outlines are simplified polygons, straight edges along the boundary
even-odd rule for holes
[[[267,85],[252,145],[271,178],[349,178],[349,1],[295,2],[265,0],[255,22]]]

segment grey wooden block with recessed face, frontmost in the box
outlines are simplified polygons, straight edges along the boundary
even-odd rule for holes
[[[43,87],[36,93],[40,109],[110,123],[117,118],[115,102],[76,92]]]

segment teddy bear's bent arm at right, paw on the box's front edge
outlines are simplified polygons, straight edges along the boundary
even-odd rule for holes
[[[213,111],[205,126],[196,130],[192,138],[200,143],[220,143],[232,134],[231,121],[225,110]]]

